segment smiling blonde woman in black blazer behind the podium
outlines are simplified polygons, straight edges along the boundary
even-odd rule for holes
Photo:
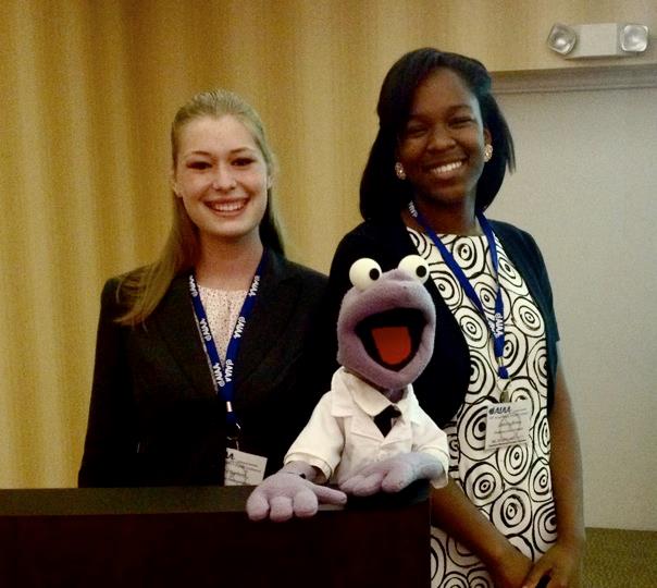
[[[102,293],[79,486],[257,483],[317,400],[305,350],[326,278],[284,257],[258,113],[198,94],[171,148],[169,240]]]

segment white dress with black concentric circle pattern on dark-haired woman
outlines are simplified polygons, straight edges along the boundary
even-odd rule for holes
[[[462,406],[444,427],[449,440],[449,474],[513,546],[537,560],[557,539],[543,317],[496,237],[505,308],[508,400],[529,399],[531,417],[528,443],[486,450],[486,408],[499,403],[501,396],[489,329],[431,238],[412,229],[409,233],[418,253],[429,262],[431,277],[470,347],[468,392]],[[485,236],[441,237],[493,317],[496,285]],[[479,558],[436,527],[432,528],[431,559],[433,588],[493,588]]]

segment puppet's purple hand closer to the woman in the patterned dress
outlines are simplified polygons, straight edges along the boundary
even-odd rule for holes
[[[443,475],[443,465],[427,453],[401,453],[382,462],[370,464],[340,483],[339,488],[355,497],[369,497],[376,492],[399,492],[420,479],[435,479]]]

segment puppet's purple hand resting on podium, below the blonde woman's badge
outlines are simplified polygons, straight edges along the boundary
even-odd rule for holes
[[[287,466],[285,466],[287,467]],[[251,520],[269,518],[274,522],[313,516],[320,503],[345,504],[347,497],[339,490],[319,486],[286,468],[265,478],[247,500]]]

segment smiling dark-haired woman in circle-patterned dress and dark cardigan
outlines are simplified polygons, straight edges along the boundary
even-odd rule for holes
[[[364,222],[331,268],[332,316],[359,258],[429,262],[433,358],[414,384],[448,434],[432,491],[432,586],[577,586],[581,458],[547,272],[534,240],[488,221],[513,143],[486,69],[436,49],[386,75],[361,181]]]

